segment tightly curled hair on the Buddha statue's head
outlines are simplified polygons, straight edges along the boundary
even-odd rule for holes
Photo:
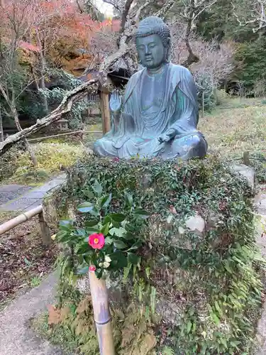
[[[140,21],[135,33],[135,39],[146,37],[147,35],[159,35],[162,44],[167,48],[167,62],[170,60],[171,33],[167,24],[160,17],[150,16]]]

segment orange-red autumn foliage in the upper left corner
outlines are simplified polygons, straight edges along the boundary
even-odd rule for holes
[[[95,55],[92,39],[97,33],[120,28],[120,21],[92,20],[70,0],[9,0],[0,8],[2,40],[11,43],[16,38],[18,48],[41,51],[52,65],[77,74]],[[20,24],[18,33],[14,33],[11,21]]]

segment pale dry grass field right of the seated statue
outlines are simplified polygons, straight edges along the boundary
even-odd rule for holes
[[[246,99],[245,103],[248,102]],[[265,106],[216,109],[200,120],[199,129],[206,136],[209,148],[223,156],[242,155],[243,151],[266,153]]]

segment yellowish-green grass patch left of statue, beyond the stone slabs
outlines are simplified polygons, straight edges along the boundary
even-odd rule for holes
[[[85,127],[86,131],[101,131],[101,124]],[[31,143],[38,160],[33,167],[28,152],[14,146],[0,158],[0,182],[21,185],[42,185],[43,182],[58,175],[61,170],[69,168],[82,157],[86,148],[92,149],[94,141],[101,138],[102,133],[85,133],[80,136],[59,136],[48,138],[38,143]]]

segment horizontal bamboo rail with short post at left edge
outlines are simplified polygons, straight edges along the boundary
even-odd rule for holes
[[[19,214],[17,217],[10,219],[9,221],[0,225],[0,236],[6,231],[10,231],[11,229],[15,228],[15,226],[19,226],[19,224],[28,221],[29,219],[35,217],[38,214],[39,223],[40,223],[40,231],[42,234],[43,245],[48,246],[51,244],[51,234],[48,224],[45,222],[43,218],[43,206],[35,207],[30,211],[23,212]]]

